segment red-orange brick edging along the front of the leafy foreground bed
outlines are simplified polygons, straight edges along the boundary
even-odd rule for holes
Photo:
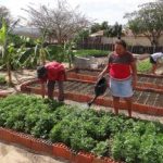
[[[8,143],[15,143],[30,149],[39,154],[48,154],[54,158],[67,160],[71,163],[118,163],[111,158],[98,158],[88,152],[74,153],[64,143],[51,143],[43,139],[34,138],[30,135],[17,133],[0,127],[0,139]],[[98,162],[97,162],[98,161]]]

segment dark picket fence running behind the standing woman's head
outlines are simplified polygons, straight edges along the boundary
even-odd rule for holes
[[[114,45],[109,43],[78,43],[77,49],[97,49],[97,50],[108,50],[113,51]],[[163,47],[143,47],[143,46],[128,46],[127,49],[133,53],[154,53],[163,51]]]

